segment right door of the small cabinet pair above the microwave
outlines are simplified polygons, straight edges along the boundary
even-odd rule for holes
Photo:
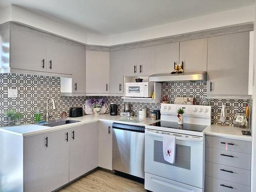
[[[155,67],[156,47],[143,47],[138,49],[138,74],[152,75]]]

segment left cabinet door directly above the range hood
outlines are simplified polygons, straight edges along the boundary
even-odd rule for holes
[[[156,74],[174,71],[174,62],[179,62],[179,46],[179,42],[156,46]]]

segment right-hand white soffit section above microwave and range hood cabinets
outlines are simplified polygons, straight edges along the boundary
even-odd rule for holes
[[[182,20],[180,22],[145,28],[141,30],[110,35],[109,45],[123,44],[125,42],[160,38],[181,33],[200,31],[205,29],[253,22],[254,7],[248,6],[240,9],[219,12],[201,17]],[[91,39],[88,39],[90,42]]]

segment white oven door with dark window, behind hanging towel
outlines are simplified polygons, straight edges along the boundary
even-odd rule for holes
[[[176,136],[174,164],[164,160],[162,134]],[[146,130],[145,172],[204,188],[204,138]]]

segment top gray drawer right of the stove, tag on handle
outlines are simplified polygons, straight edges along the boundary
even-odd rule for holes
[[[224,128],[223,128],[224,129]],[[205,138],[205,146],[219,148],[220,150],[226,149],[232,152],[241,152],[251,154],[251,142],[250,141],[242,141],[237,139],[226,139],[222,137],[213,137],[206,136]]]

